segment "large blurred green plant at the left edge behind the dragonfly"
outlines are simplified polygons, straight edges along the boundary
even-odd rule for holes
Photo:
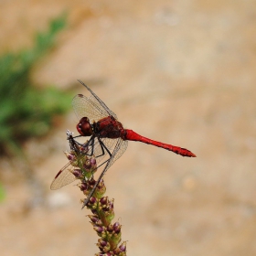
[[[54,87],[38,89],[30,79],[38,60],[55,45],[56,36],[67,24],[61,15],[49,22],[46,32],[37,33],[35,45],[0,57],[0,154],[22,153],[21,143],[48,133],[55,115],[69,110],[70,93]]]

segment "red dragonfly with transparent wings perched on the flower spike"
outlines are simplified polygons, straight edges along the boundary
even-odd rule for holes
[[[84,200],[82,208],[88,204],[102,176],[104,176],[112,164],[123,155],[127,148],[128,141],[152,144],[174,152],[177,155],[196,157],[195,154],[186,148],[157,142],[135,133],[133,130],[124,129],[123,124],[118,121],[116,114],[112,112],[86,84],[81,80],[78,81],[91,92],[89,97],[78,94],[72,101],[74,112],[80,120],[76,127],[77,131],[80,133],[78,137],[90,137],[89,140],[83,144],[83,147],[87,148],[84,154],[89,156],[93,155],[96,158],[98,167],[100,163],[103,165],[101,175],[98,177],[94,187],[92,187],[91,193]],[[75,137],[68,133],[69,144],[72,145],[72,147],[76,147],[76,144],[79,144],[74,138]],[[107,157],[107,159],[102,162],[105,157]],[[70,162],[63,166],[53,179],[51,189],[59,189],[77,179],[76,176],[70,172],[70,167],[72,167]]]

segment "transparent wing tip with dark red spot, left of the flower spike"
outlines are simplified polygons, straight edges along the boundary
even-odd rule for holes
[[[76,176],[70,173],[70,170],[72,170],[73,168],[74,167],[70,164],[70,162],[67,165],[63,166],[63,168],[53,179],[50,185],[50,189],[59,189],[60,187],[64,187],[69,183],[75,181],[77,179]]]

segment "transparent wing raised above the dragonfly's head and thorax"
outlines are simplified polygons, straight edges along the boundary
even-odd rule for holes
[[[91,96],[88,98],[82,94],[78,94],[73,98],[72,105],[77,117],[81,119],[86,116],[91,122],[93,120],[97,122],[101,118],[110,115],[117,119],[116,114],[89,87],[84,83],[82,84],[91,92]]]

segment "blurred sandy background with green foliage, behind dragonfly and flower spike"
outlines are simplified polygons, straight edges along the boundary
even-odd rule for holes
[[[88,84],[131,142],[105,176],[128,255],[256,255],[255,1],[0,2],[1,255],[93,255],[68,160]]]

